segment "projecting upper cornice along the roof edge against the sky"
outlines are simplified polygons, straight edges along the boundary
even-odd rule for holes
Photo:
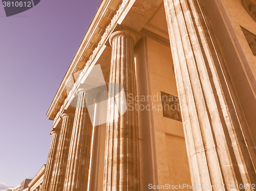
[[[102,0],[47,111],[46,116],[49,120],[54,120],[60,106],[67,98],[66,85],[69,79],[73,78],[72,75],[77,70],[84,67],[86,60],[88,60],[87,56],[93,53],[93,50],[101,39],[105,28],[109,25],[120,3],[121,0]]]

